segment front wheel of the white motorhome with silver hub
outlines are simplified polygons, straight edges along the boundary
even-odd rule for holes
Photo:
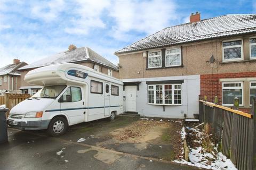
[[[58,137],[66,133],[68,129],[68,122],[66,118],[63,117],[54,117],[48,127],[48,133],[52,137]]]

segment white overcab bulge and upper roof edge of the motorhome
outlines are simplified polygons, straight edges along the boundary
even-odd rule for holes
[[[71,79],[70,77],[67,77],[67,72],[69,70],[83,71],[88,74],[88,77],[123,84],[121,80],[97,72],[87,66],[71,63],[44,66],[31,70],[26,74],[25,81],[37,86],[49,86],[53,84],[85,84],[86,79],[77,77],[71,77]]]

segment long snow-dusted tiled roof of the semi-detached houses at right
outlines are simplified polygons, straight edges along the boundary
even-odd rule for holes
[[[255,14],[223,15],[195,23],[167,27],[118,50],[115,54],[166,47],[212,38],[235,36],[250,32],[256,32]]]

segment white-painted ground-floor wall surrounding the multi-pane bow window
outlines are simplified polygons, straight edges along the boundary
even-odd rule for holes
[[[181,105],[170,106],[148,104],[148,86],[147,81],[168,81],[184,80],[181,83]],[[200,94],[200,75],[184,75],[174,77],[157,77],[157,78],[139,78],[123,79],[124,82],[141,82],[139,90],[136,90],[136,111],[141,116],[149,117],[166,117],[166,118],[194,118],[193,114],[198,114],[198,96]],[[126,86],[127,87],[127,86]],[[124,91],[125,95],[125,91]],[[124,102],[124,111],[126,110]]]

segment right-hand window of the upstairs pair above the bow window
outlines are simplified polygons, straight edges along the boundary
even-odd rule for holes
[[[180,48],[167,49],[165,54],[165,66],[181,65],[181,50]]]

